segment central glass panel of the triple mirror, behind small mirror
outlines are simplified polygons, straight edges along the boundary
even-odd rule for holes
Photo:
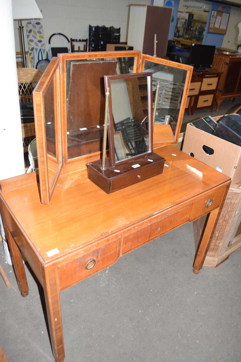
[[[102,151],[104,76],[133,72],[134,60],[135,57],[122,57],[66,61],[68,159]]]

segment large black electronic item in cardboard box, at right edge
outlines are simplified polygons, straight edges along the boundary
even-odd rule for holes
[[[214,136],[241,146],[241,115],[228,114],[221,118]]]

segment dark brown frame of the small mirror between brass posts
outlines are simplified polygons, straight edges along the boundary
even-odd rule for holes
[[[112,113],[112,94],[111,94],[111,81],[116,79],[133,79],[147,77],[147,105],[148,105],[148,139],[149,139],[149,151],[141,153],[133,157],[126,158],[122,161],[115,160],[115,144],[114,144],[114,121]],[[131,73],[131,74],[119,74],[104,76],[105,88],[109,88],[109,112],[108,112],[108,140],[109,140],[109,163],[111,167],[121,165],[130,161],[134,161],[151,155],[153,152],[153,139],[152,139],[152,73]]]

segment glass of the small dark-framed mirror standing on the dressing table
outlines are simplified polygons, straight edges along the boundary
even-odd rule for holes
[[[115,164],[151,151],[150,87],[150,76],[110,77],[109,128],[113,134]]]

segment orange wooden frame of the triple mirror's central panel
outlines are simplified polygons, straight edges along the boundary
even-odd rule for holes
[[[67,110],[66,110],[66,62],[69,60],[91,60],[91,59],[112,59],[112,58],[135,58],[133,73],[138,73],[141,59],[140,51],[109,51],[109,52],[83,52],[58,54],[60,59],[60,119],[61,119],[61,143],[63,153],[63,166],[78,162],[85,164],[100,159],[101,151],[68,159],[67,147]]]

